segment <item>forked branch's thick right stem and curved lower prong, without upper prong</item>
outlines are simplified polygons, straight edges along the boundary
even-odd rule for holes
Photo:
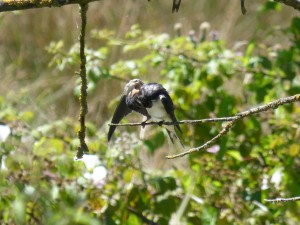
[[[225,134],[227,134],[230,129],[233,127],[233,125],[238,121],[243,119],[244,117],[248,117],[250,115],[254,115],[254,114],[258,114],[260,112],[264,112],[270,109],[276,109],[277,107],[281,106],[281,105],[285,105],[285,104],[289,104],[289,103],[293,103],[293,102],[298,102],[300,101],[300,94],[294,95],[294,96],[290,96],[290,97],[286,97],[286,98],[280,98],[276,101],[270,102],[266,105],[262,105],[262,106],[258,106],[252,109],[249,109],[247,111],[241,112],[239,114],[236,115],[236,119],[234,119],[233,121],[229,122],[220,132],[218,135],[216,135],[214,138],[212,138],[211,140],[209,140],[208,142],[206,142],[205,144],[197,147],[197,148],[191,148],[188,151],[182,152],[180,154],[177,155],[169,155],[166,156],[167,159],[174,159],[174,158],[178,158],[178,157],[182,157],[188,154],[191,154],[193,152],[198,152],[201,149],[205,149],[208,148],[209,146],[211,146],[212,143],[216,142],[218,139],[220,139],[222,136],[224,136]]]

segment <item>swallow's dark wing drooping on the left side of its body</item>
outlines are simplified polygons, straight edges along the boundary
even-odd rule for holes
[[[119,105],[116,108],[111,123],[117,124],[119,123],[123,117],[131,113],[131,109],[126,105],[126,95],[123,95],[120,99]],[[117,126],[110,126],[108,131],[107,140],[110,141],[115,129]]]

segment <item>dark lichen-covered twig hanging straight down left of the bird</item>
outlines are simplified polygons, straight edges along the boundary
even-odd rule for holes
[[[87,106],[87,78],[86,78],[86,57],[84,53],[85,49],[85,27],[86,27],[86,13],[88,10],[88,4],[80,5],[80,15],[81,15],[81,31],[80,31],[80,79],[81,79],[81,87],[80,87],[80,114],[79,114],[79,122],[80,122],[80,130],[78,131],[78,139],[80,141],[80,146],[77,149],[77,159],[81,159],[84,152],[88,152],[88,147],[85,143],[85,115],[88,113]]]

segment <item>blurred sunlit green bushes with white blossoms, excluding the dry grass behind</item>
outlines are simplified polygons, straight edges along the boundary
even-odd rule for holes
[[[299,24],[300,18],[295,17],[288,28],[281,29],[289,45],[252,40],[232,48],[226,48],[207,26],[199,34],[176,37],[143,31],[138,25],[123,37],[110,30],[94,30],[91,36],[101,48],[86,49],[89,93],[102,88],[105,80],[139,77],[160,82],[170,91],[180,120],[230,116],[300,93]],[[119,60],[108,62],[116,49]],[[59,70],[79,63],[78,45],[65,50],[59,41],[47,50],[53,54],[50,64]],[[1,224],[300,222],[299,202],[263,201],[300,195],[299,104],[246,118],[214,149],[173,163],[159,155],[167,148],[176,151],[164,144],[161,127],[153,127],[142,141],[137,129],[118,128],[113,143],[107,144],[106,128],[90,123],[87,144],[100,161],[89,168],[74,161],[75,118],[31,127],[36,115],[14,107],[18,102],[26,104],[26,93],[14,101],[0,98],[0,120],[12,128],[11,136],[0,143]],[[111,112],[116,104],[113,101]],[[195,147],[216,135],[221,124],[182,129],[186,146]],[[149,165],[153,158],[168,165]],[[100,175],[95,172],[97,166],[107,174],[96,181],[91,177]]]

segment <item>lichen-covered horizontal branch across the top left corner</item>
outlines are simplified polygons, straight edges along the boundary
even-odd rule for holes
[[[100,0],[0,0],[0,12],[44,7],[61,7],[71,4],[85,5],[95,1]]]

